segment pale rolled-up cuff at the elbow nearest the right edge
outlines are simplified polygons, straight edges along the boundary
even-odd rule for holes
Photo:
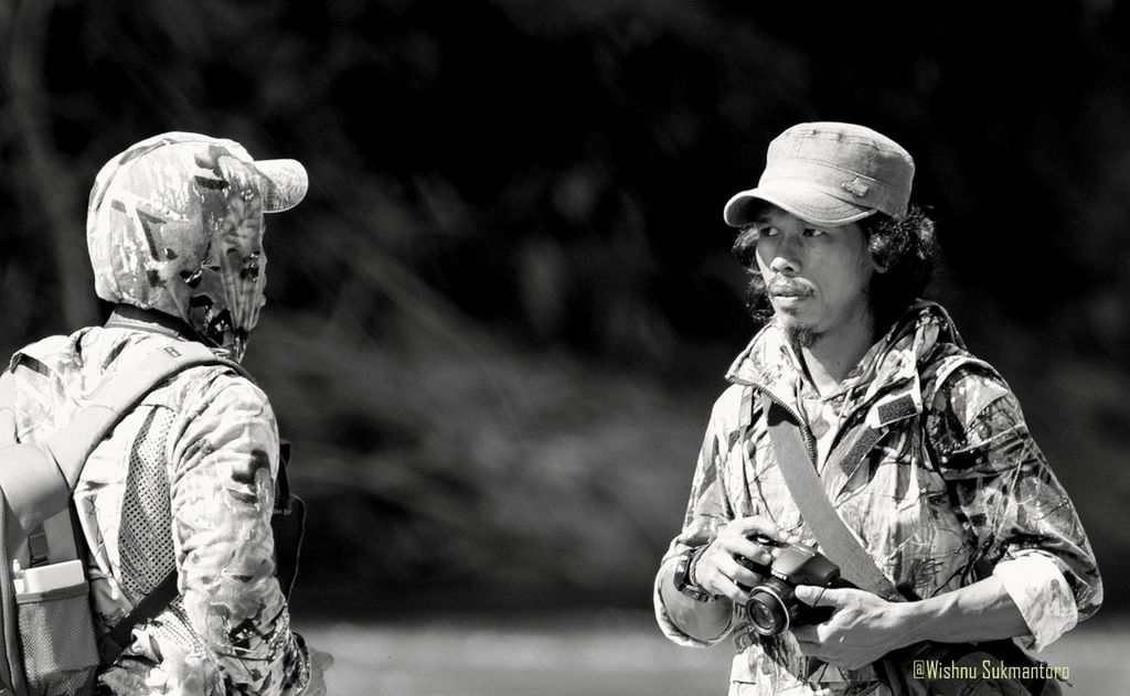
[[[1075,594],[1055,562],[1028,553],[997,564],[992,574],[1020,610],[1028,636],[1017,641],[1028,650],[1043,650],[1079,621]]]

